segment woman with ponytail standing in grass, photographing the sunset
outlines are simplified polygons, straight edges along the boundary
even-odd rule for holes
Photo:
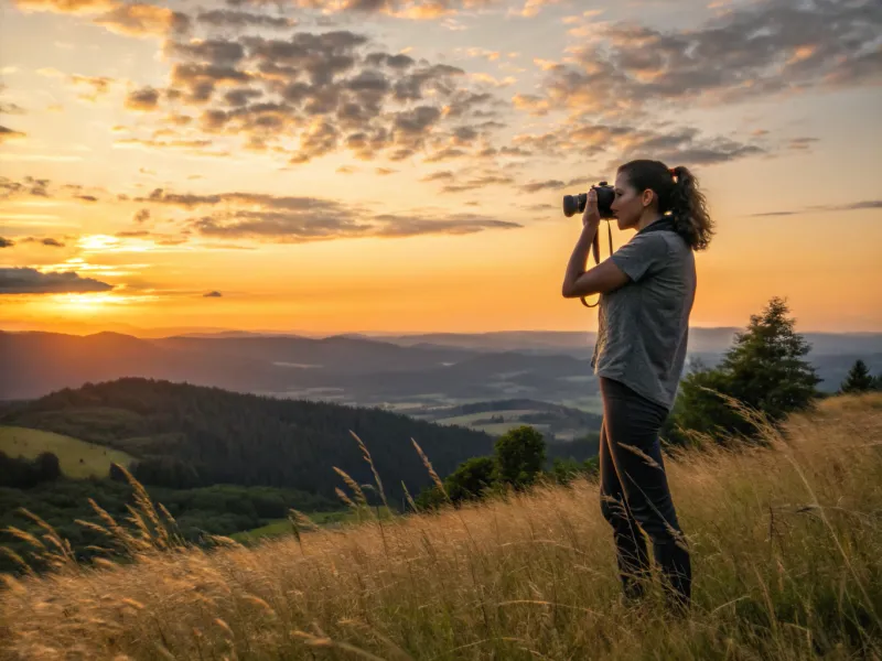
[[[693,251],[708,247],[713,224],[686,167],[631,161],[619,167],[612,204],[620,229],[637,234],[585,271],[600,215],[588,194],[582,235],[563,280],[563,296],[600,294],[598,342],[591,365],[600,381],[601,511],[613,528],[626,600],[641,597],[653,542],[668,603],[688,609],[691,566],[670,498],[658,432],[682,373],[696,292]]]

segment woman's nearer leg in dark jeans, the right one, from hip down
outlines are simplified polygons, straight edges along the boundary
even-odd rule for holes
[[[624,500],[653,542],[653,555],[667,578],[668,596],[675,605],[688,606],[689,551],[677,521],[658,441],[668,412],[617,381],[601,378],[600,384],[606,449]]]

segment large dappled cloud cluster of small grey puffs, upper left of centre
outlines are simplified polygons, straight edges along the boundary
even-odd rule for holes
[[[365,161],[459,158],[477,153],[503,127],[488,120],[507,104],[463,69],[370,46],[366,35],[347,30],[171,39],[163,46],[175,59],[170,85],[133,93],[127,106],[155,110],[168,101],[175,115],[193,107],[200,112],[194,129],[290,164],[344,150]],[[155,136],[117,144],[176,147]]]

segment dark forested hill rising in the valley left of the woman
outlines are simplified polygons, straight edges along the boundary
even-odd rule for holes
[[[0,424],[47,430],[122,449],[148,485],[187,488],[212,484],[293,487],[334,495],[333,467],[359,484],[370,469],[349,430],[367,445],[387,494],[411,494],[430,481],[415,451],[435,470],[493,452],[483,432],[418,421],[378,409],[282,400],[170,381],[126,378],[87,383],[12,407]]]

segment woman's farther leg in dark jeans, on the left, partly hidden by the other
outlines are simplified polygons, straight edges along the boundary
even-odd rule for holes
[[[610,454],[606,424],[600,429],[600,511],[613,527],[619,576],[625,597],[636,599],[645,592],[649,576],[646,540],[631,513],[622,483]]]

